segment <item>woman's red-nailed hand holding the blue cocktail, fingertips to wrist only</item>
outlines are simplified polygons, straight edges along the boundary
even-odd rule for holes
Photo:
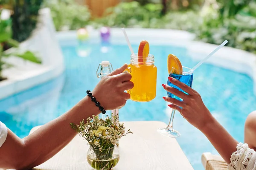
[[[166,91],[169,91],[171,94],[180,97],[183,101],[170,98],[163,97],[165,101],[172,103],[168,105],[170,108],[176,109],[180,112],[180,114],[193,126],[202,130],[202,128],[212,120],[212,115],[204,105],[203,100],[201,99],[200,94],[197,91],[193,90],[189,86],[184,83],[174,79],[172,77],[168,78],[169,81],[181,88],[187,94],[182,91],[177,90],[176,88],[170,87],[169,85],[163,85]],[[180,108],[181,107],[181,108]]]

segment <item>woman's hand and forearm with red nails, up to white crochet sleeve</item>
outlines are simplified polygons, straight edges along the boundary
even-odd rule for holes
[[[179,101],[177,99],[164,97],[166,101],[172,103],[169,107],[178,110],[191,125],[201,130],[218,153],[220,153],[222,158],[229,164],[230,155],[236,151],[238,142],[213,118],[197,91],[177,79],[172,77],[168,79],[172,84],[188,93],[185,94],[176,88],[163,85],[166,91],[183,99],[183,101]]]

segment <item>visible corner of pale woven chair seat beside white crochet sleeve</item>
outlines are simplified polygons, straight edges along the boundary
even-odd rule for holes
[[[202,164],[205,170],[227,170],[227,163],[219,155],[212,155],[211,153],[202,154]]]

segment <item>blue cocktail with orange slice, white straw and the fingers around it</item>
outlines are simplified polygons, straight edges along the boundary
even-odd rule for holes
[[[160,134],[162,134],[163,136],[168,136],[173,138],[180,136],[180,133],[177,130],[173,129],[173,118],[176,110],[182,113],[183,109],[184,110],[186,109],[184,107],[186,105],[186,100],[184,101],[183,99],[185,99],[186,96],[188,95],[195,94],[195,93],[192,93],[193,90],[190,90],[192,86],[192,81],[193,81],[193,72],[195,71],[196,68],[198,68],[201,64],[203,64],[209,57],[215,54],[215,52],[217,52],[225,44],[227,44],[227,40],[224,41],[221,45],[219,45],[207,57],[202,59],[201,62],[195,65],[195,67],[192,69],[187,67],[182,67],[179,59],[176,56],[172,54],[168,56],[168,66],[169,66],[168,70],[170,75],[168,77],[167,85],[163,84],[163,88],[165,88],[167,91],[169,89],[169,91],[171,91],[172,93],[167,92],[168,97],[163,97],[163,98],[166,101],[172,103],[172,105],[169,105],[169,107],[172,108],[172,114],[169,121],[169,125],[166,128],[157,130]],[[182,83],[177,83],[177,81],[180,81]],[[190,87],[190,88],[186,88],[186,87]],[[189,91],[185,91],[186,89],[189,89]],[[180,91],[183,93],[180,93]]]

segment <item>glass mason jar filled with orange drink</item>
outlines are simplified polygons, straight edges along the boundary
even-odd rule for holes
[[[157,67],[154,65],[154,56],[138,57],[138,54],[131,55],[131,64],[128,65],[128,72],[131,74],[131,81],[134,88],[127,92],[131,100],[136,102],[149,102],[156,96],[157,91]]]

